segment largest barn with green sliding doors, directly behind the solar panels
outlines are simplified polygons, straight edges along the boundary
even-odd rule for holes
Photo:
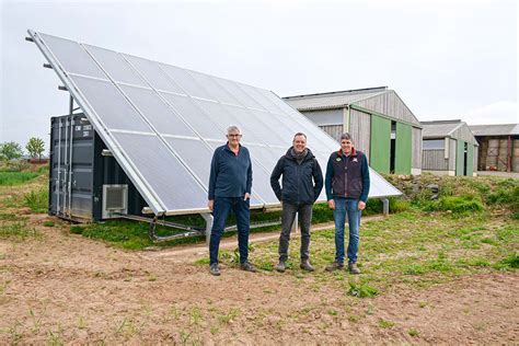
[[[388,86],[284,99],[336,140],[350,132],[377,172],[420,174],[422,125]]]

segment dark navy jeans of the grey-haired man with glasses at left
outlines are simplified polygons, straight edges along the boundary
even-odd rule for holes
[[[243,200],[243,197],[216,197],[214,208],[211,239],[209,241],[210,264],[218,263],[220,239],[226,229],[226,221],[231,210],[234,211],[237,216],[240,263],[247,262],[249,229],[251,227],[250,199]]]

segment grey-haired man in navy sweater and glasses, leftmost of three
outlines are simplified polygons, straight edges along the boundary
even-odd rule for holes
[[[249,229],[251,224],[252,162],[249,150],[240,145],[242,134],[237,126],[227,129],[228,142],[215,150],[209,176],[208,207],[214,211],[211,238],[209,241],[212,275],[220,275],[218,250],[229,212],[237,216],[240,267],[256,272],[249,263]]]

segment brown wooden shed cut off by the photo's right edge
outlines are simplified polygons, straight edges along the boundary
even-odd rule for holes
[[[519,124],[471,125],[480,143],[480,171],[519,172]]]

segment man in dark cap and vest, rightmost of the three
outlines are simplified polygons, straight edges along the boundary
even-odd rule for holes
[[[344,228],[349,226],[348,269],[360,274],[357,266],[360,216],[366,208],[369,193],[368,159],[354,148],[351,136],[341,136],[341,149],[332,152],[326,166],[326,199],[335,220],[335,262],[326,266],[333,272],[344,267]]]

